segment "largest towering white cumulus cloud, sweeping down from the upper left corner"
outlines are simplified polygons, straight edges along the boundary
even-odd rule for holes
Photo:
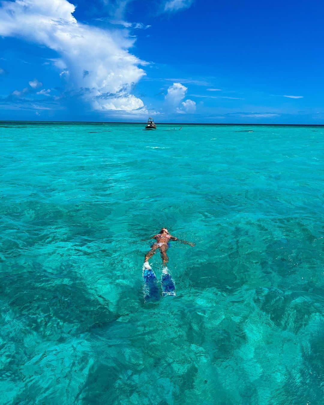
[[[143,108],[143,101],[130,94],[145,75],[139,68],[144,62],[128,51],[134,39],[79,23],[72,15],[75,6],[67,0],[7,0],[1,5],[0,36],[23,38],[56,51],[59,58],[54,64],[64,71],[61,76],[67,78],[68,90],[83,94],[94,109]]]

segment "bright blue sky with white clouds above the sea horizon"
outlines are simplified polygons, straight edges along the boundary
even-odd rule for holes
[[[0,119],[324,124],[320,1],[14,0]]]

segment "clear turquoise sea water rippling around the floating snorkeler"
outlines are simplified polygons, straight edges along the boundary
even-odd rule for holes
[[[323,127],[0,124],[1,403],[322,402]]]

